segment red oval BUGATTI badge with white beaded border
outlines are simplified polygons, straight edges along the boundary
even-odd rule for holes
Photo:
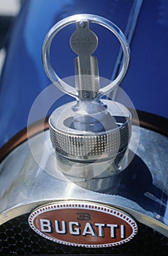
[[[70,246],[115,246],[137,233],[137,224],[128,214],[91,202],[42,206],[31,213],[28,222],[40,236]]]

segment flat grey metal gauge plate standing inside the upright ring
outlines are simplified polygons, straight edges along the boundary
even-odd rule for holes
[[[75,58],[75,86],[80,98],[93,99],[99,91],[98,61],[91,54],[96,50],[98,37],[89,29],[88,22],[77,22],[70,39]]]

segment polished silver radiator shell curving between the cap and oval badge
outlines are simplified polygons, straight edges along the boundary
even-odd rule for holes
[[[42,145],[43,138],[45,145]],[[130,151],[134,148],[136,140],[137,127],[133,127]],[[118,185],[122,186],[111,192],[93,192],[91,187],[85,189],[70,181],[68,176],[59,170],[57,160],[56,162],[53,160],[56,157],[48,130],[31,138],[29,143],[31,147],[34,146],[34,152],[37,154],[34,157],[39,157],[40,165],[43,167],[37,165],[34,160],[28,141],[15,148],[1,162],[1,224],[29,213],[44,203],[58,200],[89,200],[121,208],[137,221],[168,236],[168,139],[166,137],[140,128],[140,143],[135,156],[139,162],[134,162],[133,159],[132,170],[121,172],[123,173],[121,181],[118,179]],[[95,176],[91,178],[92,184],[99,181],[100,178],[96,179]],[[123,194],[121,194],[122,189]]]

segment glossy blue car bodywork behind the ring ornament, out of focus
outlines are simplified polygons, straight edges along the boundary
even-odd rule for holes
[[[134,0],[29,0],[23,4],[9,39],[7,60],[0,87],[0,145],[26,127],[28,113],[37,95],[50,85],[42,67],[42,42],[58,20],[77,13],[92,13],[112,20],[124,32]],[[131,63],[121,87],[135,108],[168,116],[167,42],[168,1],[144,0],[131,42]],[[51,60],[62,77],[74,75],[75,53],[69,37],[75,26],[61,31],[53,41]],[[99,73],[110,79],[119,44],[110,33],[93,26],[99,36],[94,53]],[[62,104],[66,97],[62,99]]]

